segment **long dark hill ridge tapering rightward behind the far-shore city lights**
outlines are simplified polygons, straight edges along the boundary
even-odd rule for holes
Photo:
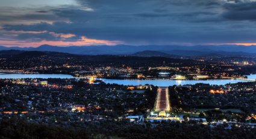
[[[1,56],[2,54],[2,56]],[[0,51],[1,58],[7,58],[9,64],[13,64],[17,61],[55,61],[55,59],[60,59],[60,61],[72,61],[72,62],[84,62],[90,64],[134,64],[137,63],[149,65],[148,62],[161,63],[174,62],[179,64],[186,64],[190,62],[197,62],[192,59],[175,59],[175,58],[164,58],[164,57],[139,57],[139,56],[118,56],[118,55],[73,55],[69,53],[60,52],[39,52],[39,51],[20,51],[20,50],[4,50]],[[29,65],[29,63],[28,63]]]

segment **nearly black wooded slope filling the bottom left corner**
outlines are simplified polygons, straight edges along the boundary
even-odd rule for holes
[[[89,138],[83,129],[28,123],[24,120],[1,120],[0,138]]]

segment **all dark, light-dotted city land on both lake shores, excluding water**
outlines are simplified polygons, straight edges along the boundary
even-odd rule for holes
[[[0,52],[1,138],[255,138],[256,57]],[[1,75],[1,74],[0,74]],[[156,86],[119,80],[243,80]],[[40,132],[39,132],[40,131]]]

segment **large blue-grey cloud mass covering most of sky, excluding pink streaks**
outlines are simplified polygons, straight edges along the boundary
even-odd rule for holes
[[[19,40],[61,40],[49,34],[75,34],[128,44],[232,43],[253,41],[256,4],[225,0],[77,0],[81,7],[35,10],[20,19],[56,20],[52,23],[6,24],[5,31],[46,31],[19,34]],[[13,17],[5,16],[5,18]],[[66,19],[66,20],[64,20]],[[4,20],[1,19],[0,20]],[[246,22],[246,26],[245,26]]]

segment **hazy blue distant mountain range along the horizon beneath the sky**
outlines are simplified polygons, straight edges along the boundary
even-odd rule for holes
[[[4,47],[0,50],[25,50],[25,51],[43,51],[43,52],[61,52],[76,55],[132,55],[132,56],[245,56],[256,55],[256,46],[49,46],[39,47]]]

